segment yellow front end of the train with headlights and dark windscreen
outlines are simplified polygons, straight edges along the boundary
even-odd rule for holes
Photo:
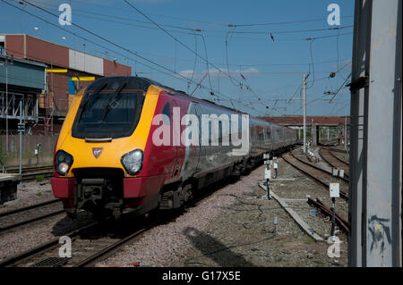
[[[161,180],[148,175],[144,150],[159,91],[148,80],[112,77],[74,98],[51,179],[67,214],[83,209],[120,217],[146,213],[158,203]]]

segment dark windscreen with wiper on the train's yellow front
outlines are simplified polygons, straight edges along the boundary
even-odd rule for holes
[[[124,138],[133,134],[144,103],[142,90],[96,90],[81,99],[72,135],[74,138]]]

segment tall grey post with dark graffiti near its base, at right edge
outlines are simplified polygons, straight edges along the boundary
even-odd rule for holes
[[[401,10],[401,0],[356,0],[350,266],[402,265]]]

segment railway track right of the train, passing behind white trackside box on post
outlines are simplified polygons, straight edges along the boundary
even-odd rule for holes
[[[323,188],[329,190],[329,183],[332,180],[332,176],[330,172],[322,170],[322,168],[317,167],[311,163],[304,162],[304,160],[296,157],[296,155],[285,154],[282,155],[283,159],[294,166],[300,172],[303,172],[317,183],[322,185]],[[342,178],[336,178],[335,182],[340,183],[340,197],[343,197],[345,200],[348,200],[347,192],[342,191],[341,189],[348,189],[348,180]]]

